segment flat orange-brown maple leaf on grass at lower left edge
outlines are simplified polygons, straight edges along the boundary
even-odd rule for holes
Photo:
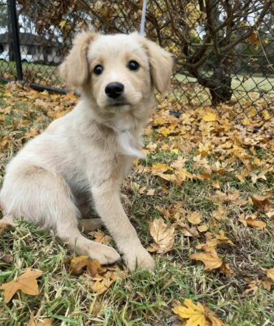
[[[36,279],[43,274],[44,273],[40,270],[31,270],[28,268],[18,279],[2,284],[0,290],[4,290],[5,303],[10,302],[10,299],[12,299],[12,296],[14,296],[18,290],[29,295],[39,294]]]

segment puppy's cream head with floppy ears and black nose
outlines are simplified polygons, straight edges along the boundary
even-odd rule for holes
[[[101,110],[130,110],[170,84],[173,58],[138,34],[83,32],[60,67],[69,86],[79,89]]]

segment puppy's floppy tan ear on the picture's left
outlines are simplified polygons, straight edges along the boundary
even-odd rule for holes
[[[82,32],[73,41],[73,47],[60,65],[60,76],[69,86],[79,88],[88,80],[88,46],[97,37],[95,32]]]

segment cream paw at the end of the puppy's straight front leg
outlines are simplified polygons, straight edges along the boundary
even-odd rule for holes
[[[130,271],[134,271],[136,267],[152,271],[155,270],[154,259],[142,246],[134,248],[132,251],[126,251],[123,259]]]

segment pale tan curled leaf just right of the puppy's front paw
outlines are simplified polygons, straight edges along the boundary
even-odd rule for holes
[[[167,253],[174,244],[174,226],[167,226],[162,218],[149,222],[149,231],[155,243],[151,244],[148,251],[151,253]]]

